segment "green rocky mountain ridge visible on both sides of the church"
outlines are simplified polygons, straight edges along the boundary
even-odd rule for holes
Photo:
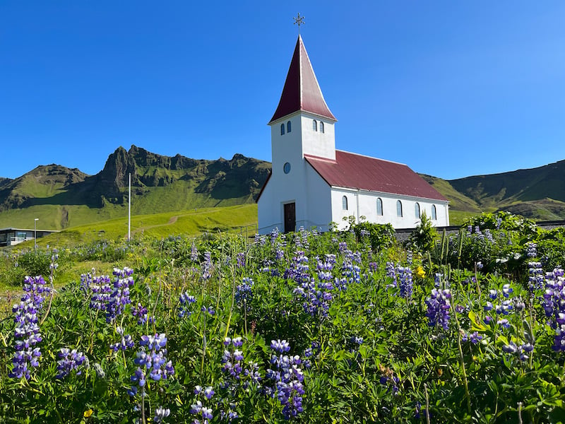
[[[54,230],[124,216],[130,173],[132,213],[252,203],[270,167],[240,153],[232,159],[207,160],[119,146],[95,175],[49,164],[14,179],[0,177],[0,228],[29,226],[38,216],[42,228]],[[565,218],[565,160],[458,179],[421,176],[449,199],[452,221],[497,210],[537,219]]]

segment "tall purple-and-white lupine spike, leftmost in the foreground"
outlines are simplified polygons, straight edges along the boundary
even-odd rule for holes
[[[20,303],[13,305],[12,311],[16,313],[14,322],[14,338],[16,338],[16,353],[13,356],[13,368],[8,377],[30,379],[30,367],[39,366],[41,356],[40,348],[35,347],[42,341],[40,327],[37,324],[37,314],[42,310],[44,295],[51,292],[45,285],[42,276],[25,277],[23,290],[25,291]]]

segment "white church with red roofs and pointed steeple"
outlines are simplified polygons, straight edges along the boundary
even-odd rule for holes
[[[335,122],[298,36],[283,94],[268,123],[273,168],[258,196],[261,234],[358,223],[414,228],[422,213],[449,225],[448,200],[407,165],[335,149]]]

